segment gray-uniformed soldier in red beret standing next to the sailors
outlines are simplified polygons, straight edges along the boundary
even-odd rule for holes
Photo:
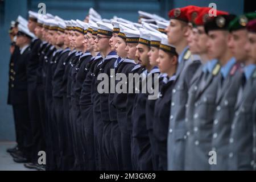
[[[200,66],[199,60],[193,60],[187,46],[185,33],[188,30],[187,10],[189,7],[171,10],[170,25],[167,27],[168,42],[176,47],[179,54],[179,66],[172,90],[171,114],[167,139],[168,170],[183,170],[185,156],[185,104],[187,103],[190,81]]]

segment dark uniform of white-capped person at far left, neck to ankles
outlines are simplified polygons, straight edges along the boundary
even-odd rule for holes
[[[19,150],[29,161],[32,160],[32,132],[28,113],[27,61],[30,59],[30,47],[20,54],[16,52],[11,69],[9,102],[13,106],[14,121],[18,129]]]

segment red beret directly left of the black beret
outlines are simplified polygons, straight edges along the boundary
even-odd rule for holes
[[[203,7],[199,13],[199,15],[195,19],[196,26],[203,26],[209,19],[214,18],[214,16],[209,16],[210,7]],[[218,11],[216,15],[228,15],[229,13],[226,11]]]

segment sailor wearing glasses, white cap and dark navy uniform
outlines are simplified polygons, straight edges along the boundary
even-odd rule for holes
[[[94,131],[96,132],[96,135],[97,135],[100,152],[102,153],[102,155],[104,155],[101,157],[102,159],[105,158],[104,159],[105,165],[103,164],[104,168],[110,169],[110,166],[112,165],[112,163],[115,163],[115,165],[113,165],[115,169],[122,169],[121,165],[118,164],[119,161],[117,160],[118,159],[117,153],[115,153],[114,161],[109,160],[108,155],[105,155],[106,153],[104,151],[104,143],[103,143],[104,140],[107,139],[107,138],[103,139],[103,134],[105,133],[106,125],[108,125],[108,129],[110,129],[108,130],[108,133],[109,133],[109,131],[112,131],[111,122],[116,121],[116,115],[112,115],[111,113],[112,110],[109,107],[109,99],[111,97],[110,88],[112,86],[110,85],[110,78],[111,78],[110,69],[114,68],[114,62],[118,57],[116,53],[111,50],[111,47],[109,45],[109,39],[112,37],[112,34],[113,34],[113,26],[110,23],[101,23],[101,22],[97,22],[97,26],[98,26],[98,34],[97,34],[97,39],[94,41],[94,43],[96,43],[96,46],[98,47],[98,51],[100,51],[102,55],[102,60],[97,65],[96,69],[94,69],[94,75],[95,75],[94,77],[96,77],[96,79],[94,82],[94,89],[92,89],[92,92],[96,92],[96,94],[93,97],[93,113],[94,113],[93,117],[95,122],[94,124],[98,126],[98,128]],[[97,76],[100,73],[105,73],[109,77],[108,93],[99,93],[100,91],[97,90],[98,89],[97,86],[101,82],[101,80],[97,78]],[[97,113],[100,115],[96,116]],[[116,138],[113,138],[113,139],[116,139]],[[108,140],[110,140],[110,138],[108,138]],[[118,151],[118,150],[115,150],[115,151]],[[121,157],[121,156],[118,156],[118,157]]]

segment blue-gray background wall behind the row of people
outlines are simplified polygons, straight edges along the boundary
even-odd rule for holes
[[[218,10],[234,14],[243,13],[243,0],[0,0],[0,140],[15,140],[13,111],[7,105],[9,44],[8,29],[18,15],[27,18],[27,11],[38,11],[38,3],[46,4],[47,13],[63,19],[83,20],[89,7],[96,9],[103,18],[113,15],[132,20],[138,19],[138,10],[155,13],[167,18],[168,10],[187,5],[208,6],[216,3]]]

